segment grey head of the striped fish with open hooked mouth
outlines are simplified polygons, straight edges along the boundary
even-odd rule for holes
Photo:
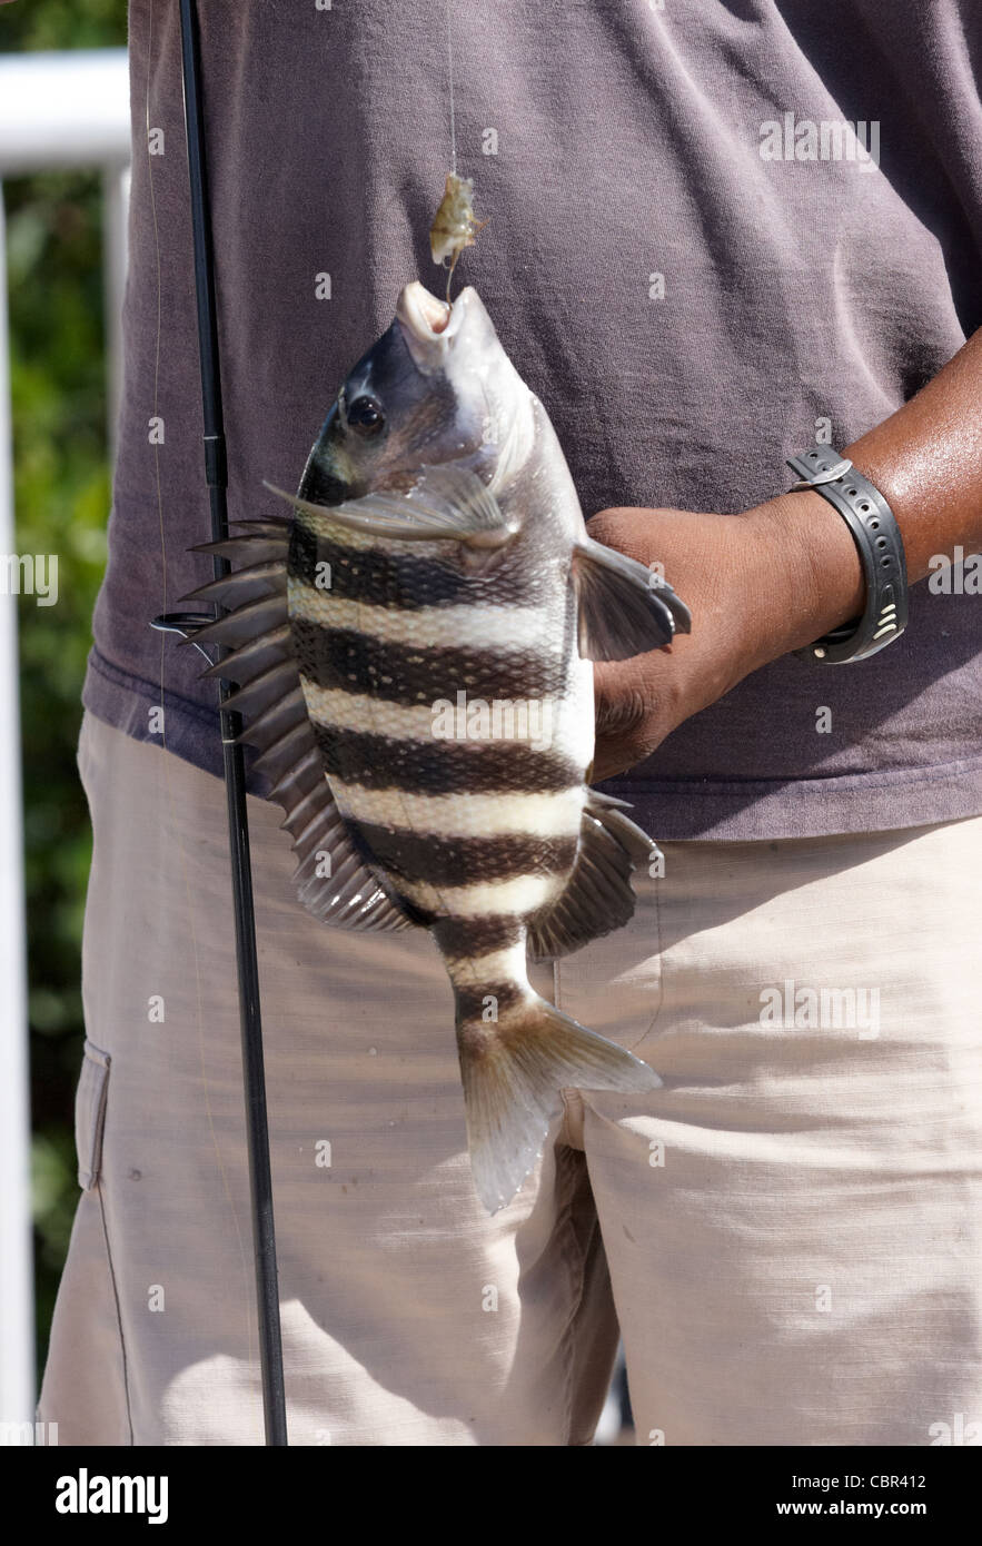
[[[473,286],[450,306],[416,280],[399,295],[391,328],[348,373],[300,493],[340,504],[379,489],[405,492],[421,467],[448,461],[500,493],[535,442],[534,404]]]

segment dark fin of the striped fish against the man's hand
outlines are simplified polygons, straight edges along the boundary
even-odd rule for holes
[[[626,553],[588,536],[574,549],[572,575],[586,660],[628,660],[670,643],[676,631],[690,631],[685,601]]]

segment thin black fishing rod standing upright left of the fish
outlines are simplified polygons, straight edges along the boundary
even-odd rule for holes
[[[195,247],[195,295],[198,309],[198,357],[201,366],[201,404],[204,413],[204,475],[212,510],[212,541],[229,535],[227,461],[224,414],[221,407],[221,371],[218,363],[218,326],[215,311],[215,254],[207,196],[207,152],[204,144],[204,111],[201,94],[201,46],[195,0],[181,0],[181,70],[184,80],[184,114],[187,122],[187,173],[190,182],[190,213]],[[215,578],[230,572],[226,558],[215,557]],[[221,612],[221,609],[217,609]],[[165,632],[187,634],[203,621],[192,612],[169,612],[155,618]],[[246,1095],[246,1139],[249,1149],[249,1200],[252,1206],[252,1248],[255,1257],[255,1289],[260,1331],[260,1373],[263,1384],[263,1418],[266,1444],[285,1446],[286,1394],[283,1387],[283,1342],[280,1334],[280,1294],[277,1283],[277,1238],[272,1215],[272,1172],[269,1166],[269,1124],[266,1118],[266,1074],[263,1068],[263,1022],[260,1014],[260,982],[255,949],[255,909],[252,901],[252,863],[249,853],[249,816],[246,810],[246,765],[241,716],[224,708],[232,691],[229,682],[218,683],[218,713],[229,809],[229,849],[232,860],[232,898],[235,908],[235,965],[238,977],[238,1014],[243,1048],[243,1081]]]

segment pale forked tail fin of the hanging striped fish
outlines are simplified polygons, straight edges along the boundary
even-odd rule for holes
[[[532,994],[501,1023],[458,1019],[470,1166],[490,1214],[510,1203],[543,1152],[560,1090],[657,1090],[654,1068]]]

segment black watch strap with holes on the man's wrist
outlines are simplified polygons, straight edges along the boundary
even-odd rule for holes
[[[789,456],[787,465],[798,476],[795,489],[813,489],[838,510],[866,575],[863,615],[795,654],[830,666],[868,660],[900,638],[908,620],[906,560],[894,512],[869,478],[827,445]]]

